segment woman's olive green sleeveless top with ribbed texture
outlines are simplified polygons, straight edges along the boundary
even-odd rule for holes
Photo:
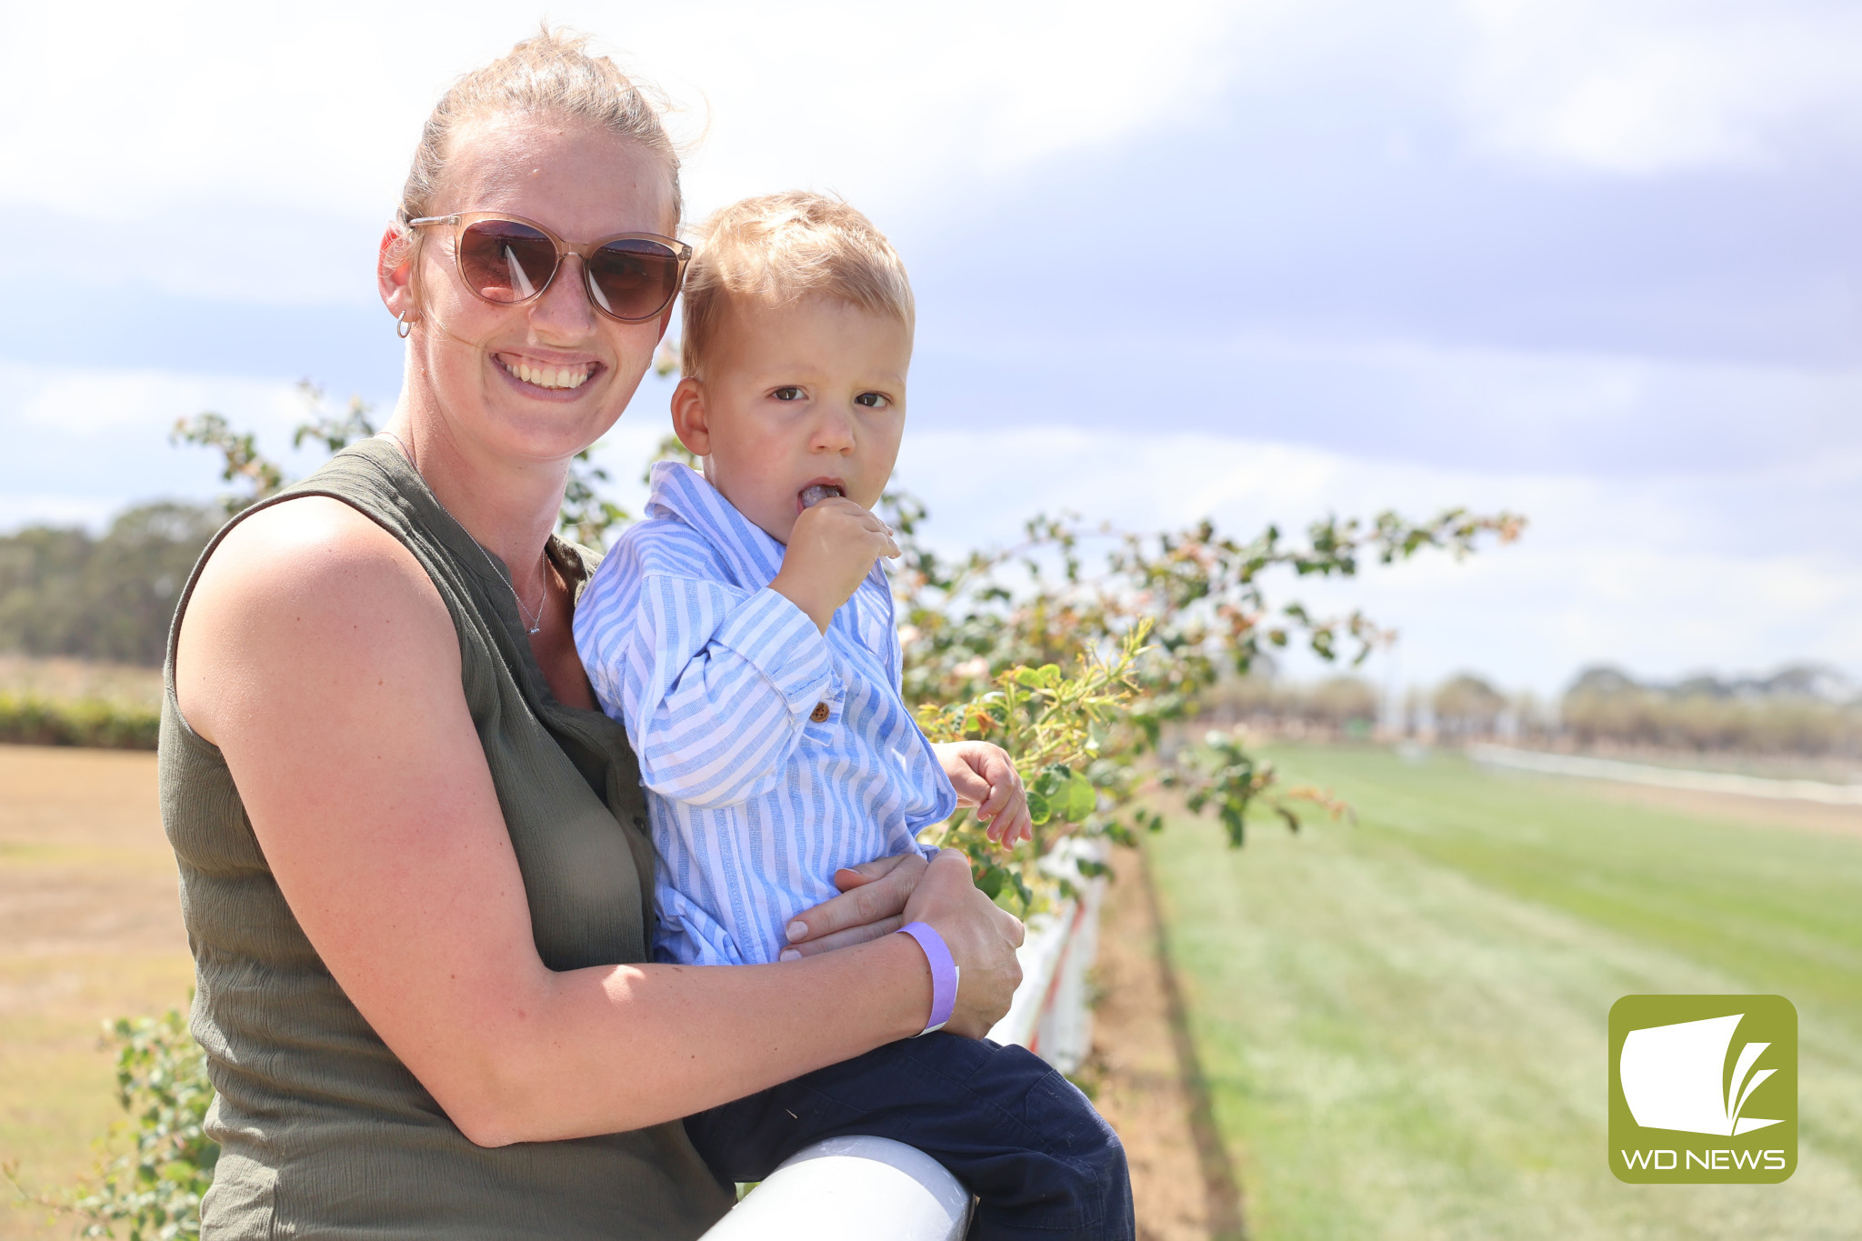
[[[503,566],[387,441],[344,448],[268,504],[300,495],[331,497],[374,519],[445,599],[458,631],[460,688],[523,871],[544,964],[650,960],[654,852],[627,735],[551,696]],[[225,530],[201,564],[220,538]],[[553,541],[551,558],[579,594],[592,554]],[[194,1034],[218,1090],[207,1131],[222,1154],[203,1239],[704,1232],[730,1198],[680,1124],[473,1146],[348,1001],[285,904],[225,759],[175,705],[173,634],[197,577],[199,566],[169,633],[160,768],[162,822],[181,867],[194,951]],[[629,1055],[614,1046],[622,1070],[665,1068],[629,1070]]]

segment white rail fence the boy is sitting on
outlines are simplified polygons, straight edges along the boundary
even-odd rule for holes
[[[1091,847],[1084,856],[1100,860]],[[1080,854],[1059,861],[1071,871]],[[1028,919],[1017,958],[1022,984],[989,1036],[1020,1044],[1063,1074],[1093,1049],[1087,969],[1099,951],[1106,880]],[[883,1137],[816,1142],[776,1168],[704,1241],[957,1241],[970,1221],[970,1194],[920,1150]]]

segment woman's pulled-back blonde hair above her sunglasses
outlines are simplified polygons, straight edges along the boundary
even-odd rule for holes
[[[672,227],[683,212],[680,153],[667,134],[665,95],[631,78],[607,56],[587,52],[588,35],[544,26],[490,65],[467,73],[434,104],[400,192],[398,223],[432,214],[434,193],[464,127],[492,115],[547,115],[598,125],[657,154],[672,182]]]

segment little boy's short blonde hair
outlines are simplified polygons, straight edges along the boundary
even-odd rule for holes
[[[791,190],[724,207],[704,221],[685,274],[680,370],[704,378],[730,298],[782,305],[821,294],[890,314],[907,337],[918,320],[899,251],[840,199]]]

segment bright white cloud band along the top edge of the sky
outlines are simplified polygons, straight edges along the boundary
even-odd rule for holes
[[[182,294],[367,300],[369,236],[458,73],[542,13],[493,0],[315,9],[11,6],[0,207],[108,225],[104,266]],[[1687,0],[570,0],[553,20],[665,84],[693,208],[840,190],[903,223],[1015,193],[1043,160],[1194,128],[1225,97],[1326,130],[1443,119],[1503,158],[1652,173],[1853,125],[1853,6]],[[1382,156],[1378,156],[1382,158]],[[1169,186],[1158,186],[1160,214]],[[125,221],[142,236],[121,236]],[[149,227],[149,225],[155,227]],[[155,244],[147,244],[147,238]],[[199,238],[210,244],[201,246]],[[173,246],[168,246],[169,240]]]

